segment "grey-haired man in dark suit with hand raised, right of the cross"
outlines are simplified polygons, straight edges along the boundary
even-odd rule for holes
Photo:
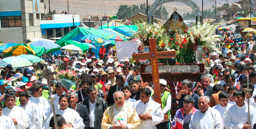
[[[202,89],[198,87],[196,88],[196,91],[194,91],[195,94],[199,96],[208,96],[211,98],[211,95],[213,94],[212,87],[210,86],[211,80],[210,76],[207,74],[204,74],[200,77],[200,83],[202,85]]]

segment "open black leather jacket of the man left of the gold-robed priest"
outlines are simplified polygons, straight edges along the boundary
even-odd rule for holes
[[[85,105],[87,107],[88,112],[90,111],[89,106],[89,98],[86,97],[81,104]],[[95,107],[95,120],[94,120],[94,129],[101,129],[101,120],[103,117],[104,111],[107,109],[107,104],[104,99],[99,98],[97,96],[96,98],[96,107]]]

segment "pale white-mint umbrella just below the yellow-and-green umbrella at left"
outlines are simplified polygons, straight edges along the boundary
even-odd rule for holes
[[[30,61],[18,56],[4,58],[3,61],[5,61],[8,64],[11,64],[12,67],[24,67],[33,65]]]

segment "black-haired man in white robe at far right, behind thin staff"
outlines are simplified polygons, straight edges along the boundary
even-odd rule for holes
[[[250,125],[248,125],[248,104],[244,102],[245,93],[242,90],[234,92],[236,105],[231,106],[223,114],[224,126],[226,129],[242,129],[252,128],[256,123],[256,110],[251,105],[250,109]]]

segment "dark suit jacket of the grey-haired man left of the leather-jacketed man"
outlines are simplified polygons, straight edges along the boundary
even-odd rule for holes
[[[68,107],[71,108],[70,105]],[[82,105],[82,104],[77,104],[76,105],[76,112],[78,112],[80,117],[83,119],[83,123],[85,125],[84,129],[89,129],[90,117],[89,117],[89,111],[87,109],[87,106]]]

